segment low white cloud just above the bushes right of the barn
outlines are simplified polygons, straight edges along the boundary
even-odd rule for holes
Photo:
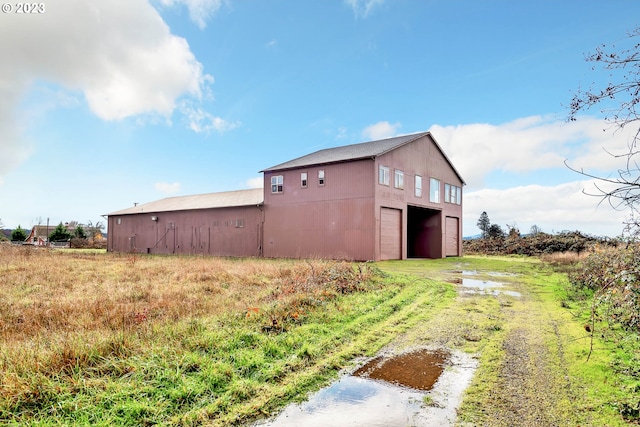
[[[537,225],[547,233],[580,230],[616,236],[623,231],[628,212],[616,211],[584,189],[594,181],[575,181],[555,186],[525,185],[505,190],[482,189],[464,194],[464,235],[479,233],[476,223],[486,211],[492,223],[506,228],[517,225],[522,233]]]

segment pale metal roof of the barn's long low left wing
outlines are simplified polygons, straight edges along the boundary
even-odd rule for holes
[[[144,203],[107,216],[131,215],[167,211],[186,211],[192,209],[230,208],[236,206],[255,206],[264,202],[262,188],[250,190],[225,191],[221,193],[196,194],[193,196],[167,197],[154,202]]]

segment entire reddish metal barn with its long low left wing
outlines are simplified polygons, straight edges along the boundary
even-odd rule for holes
[[[462,255],[464,180],[429,132],[264,169],[264,189],[108,214],[108,250],[385,260]]]

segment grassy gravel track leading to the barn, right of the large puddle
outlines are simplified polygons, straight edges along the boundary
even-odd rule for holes
[[[470,352],[479,367],[456,423],[463,426],[578,425],[577,385],[566,366],[561,311],[517,272],[407,271],[455,283],[458,296],[432,322],[399,337],[397,348],[442,347]],[[394,271],[399,271],[394,268]],[[586,424],[589,425],[589,424]]]

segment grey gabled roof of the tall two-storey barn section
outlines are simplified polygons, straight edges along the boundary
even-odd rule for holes
[[[375,158],[427,135],[430,136],[444,158],[447,160],[447,162],[449,162],[449,165],[451,166],[453,171],[456,173],[456,175],[458,175],[458,178],[460,178],[460,181],[462,181],[462,183],[464,184],[464,179],[462,179],[462,176],[458,173],[456,168],[453,166],[453,163],[451,163],[451,160],[449,160],[445,152],[442,150],[440,145],[438,145],[435,138],[433,138],[430,132],[418,132],[408,135],[395,136],[393,138],[379,139],[376,141],[361,142],[358,144],[343,145],[334,148],[325,148],[324,150],[319,150],[314,153],[289,160],[288,162],[280,163],[279,165],[272,166],[260,172],[271,172],[284,169],[295,169],[304,166],[314,166],[328,163],[339,163],[352,160]]]

